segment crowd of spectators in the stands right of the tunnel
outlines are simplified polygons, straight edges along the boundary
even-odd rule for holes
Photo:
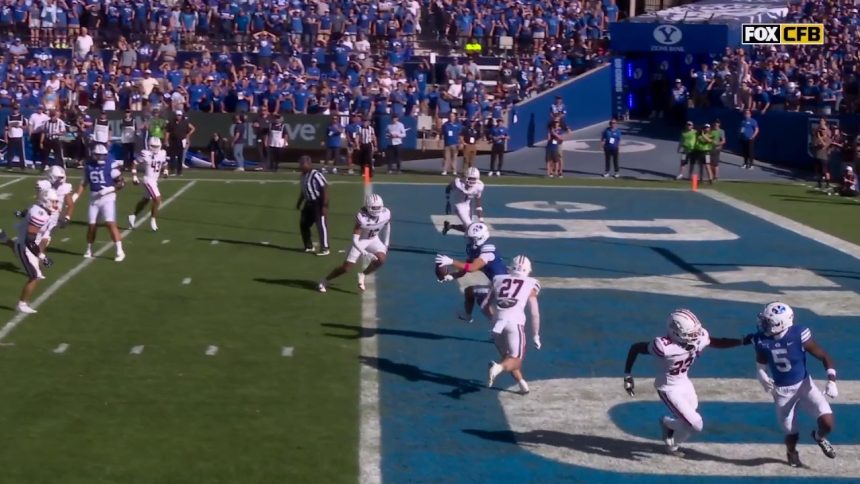
[[[860,113],[860,15],[854,0],[791,2],[789,23],[823,23],[824,45],[727,49],[676,83],[674,104],[820,115]]]

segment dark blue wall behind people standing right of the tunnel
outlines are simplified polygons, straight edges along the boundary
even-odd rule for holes
[[[729,151],[740,151],[740,122],[743,118],[736,109],[690,109],[687,119],[700,126],[719,119],[726,132],[726,147]],[[759,138],[755,144],[757,160],[791,168],[811,167],[810,133],[821,116],[809,113],[772,111],[764,115],[754,114],[759,124]],[[856,137],[860,133],[860,116],[828,116],[831,124]]]

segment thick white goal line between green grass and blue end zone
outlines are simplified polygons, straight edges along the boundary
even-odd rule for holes
[[[371,274],[364,281],[367,288],[361,297],[361,356],[369,361],[361,365],[361,401],[359,413],[358,462],[360,484],[382,482],[382,427],[379,420],[379,372],[374,368],[379,356],[379,340],[376,336],[376,276]]]

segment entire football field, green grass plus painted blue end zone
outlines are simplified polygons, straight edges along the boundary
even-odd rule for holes
[[[160,230],[128,234],[122,263],[107,245],[82,259],[84,225],[58,231],[36,315],[13,312],[24,276],[0,257],[0,482],[860,480],[860,248],[816,230],[860,240],[853,202],[793,185],[485,180],[491,240],[507,260],[528,255],[543,287],[544,346],[527,351],[521,396],[507,376],[485,387],[486,322],[457,320],[461,285],[431,274],[435,254],[465,245],[440,232],[441,178],[376,183],[393,213],[388,264],[363,294],[352,275],[319,294],[361,184],[334,178],[332,255],[315,257],[301,250],[295,178],[246,175],[162,183]],[[0,227],[33,181],[0,177]],[[119,212],[139,194],[120,192]],[[636,397],[622,389],[630,343],[661,335],[676,307],[738,337],[776,298],[836,361],[838,458],[804,416],[810,469],[783,463],[751,347],[696,362],[705,430],[686,460],[665,456],[650,357]]]

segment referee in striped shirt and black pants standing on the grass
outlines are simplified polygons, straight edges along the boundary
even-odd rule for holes
[[[296,202],[296,209],[301,209],[302,215],[299,221],[299,231],[302,234],[302,242],[305,244],[305,252],[313,252],[311,242],[311,226],[316,224],[320,234],[320,250],[317,255],[328,255],[328,181],[321,171],[311,167],[311,157],[302,155],[299,157],[299,170],[302,172],[301,192]],[[302,205],[304,202],[304,205]]]

